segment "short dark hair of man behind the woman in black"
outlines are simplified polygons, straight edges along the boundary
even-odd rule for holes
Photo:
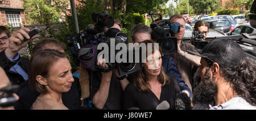
[[[139,23],[133,27],[131,30],[131,40],[135,40],[135,34],[136,33],[152,33],[152,29],[148,27],[147,25],[144,25],[142,23]]]

